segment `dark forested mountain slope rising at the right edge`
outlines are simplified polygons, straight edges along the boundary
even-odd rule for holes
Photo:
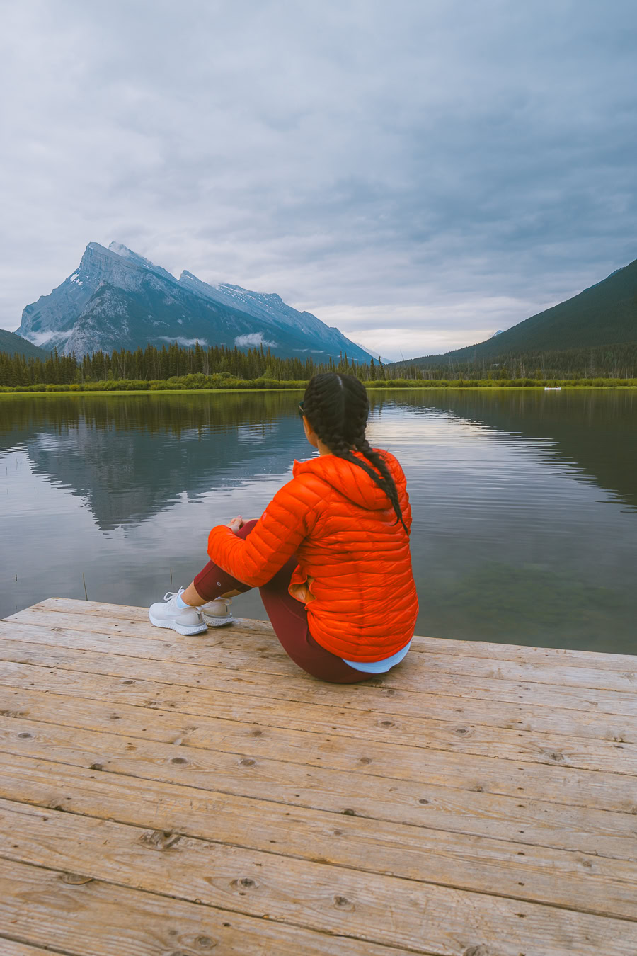
[[[478,345],[413,362],[435,366],[633,341],[637,341],[637,259],[573,298]]]

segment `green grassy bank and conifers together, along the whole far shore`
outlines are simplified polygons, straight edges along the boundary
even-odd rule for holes
[[[317,372],[357,376],[367,388],[637,388],[636,378],[608,375],[550,375],[541,368],[520,374],[514,363],[498,364],[481,375],[455,369],[421,370],[415,365],[369,364],[341,356],[338,362],[311,357],[282,359],[261,348],[245,352],[226,346],[182,348],[177,342],[160,350],[148,345],[136,352],[94,352],[81,359],[58,355],[26,359],[0,353],[0,394],[113,393],[174,391],[246,391],[304,389]],[[516,374],[517,373],[517,374]]]

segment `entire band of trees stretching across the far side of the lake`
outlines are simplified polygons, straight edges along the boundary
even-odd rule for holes
[[[76,359],[58,355],[25,359],[0,353],[0,391],[155,391],[180,388],[300,388],[317,372],[344,372],[369,386],[390,387],[532,387],[547,384],[631,384],[637,370],[637,344],[543,353],[483,362],[437,364],[416,362],[383,365],[380,359],[359,364],[347,355],[338,362],[280,359],[263,348],[241,352],[225,346],[181,348],[177,343],[160,350],[148,345],[137,352],[94,352]],[[595,354],[593,354],[595,353]],[[563,359],[561,357],[567,357]],[[602,359],[606,364],[604,365]],[[623,359],[623,363],[620,361]],[[568,367],[569,365],[575,367]],[[585,370],[585,374],[583,373]]]

